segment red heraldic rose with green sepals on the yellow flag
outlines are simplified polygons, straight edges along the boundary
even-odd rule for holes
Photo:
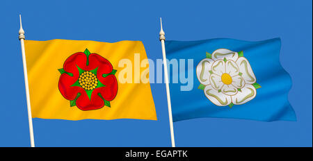
[[[74,53],[65,60],[58,81],[58,89],[71,107],[77,105],[81,110],[97,110],[104,105],[111,107],[118,93],[116,70],[109,60],[86,49]]]

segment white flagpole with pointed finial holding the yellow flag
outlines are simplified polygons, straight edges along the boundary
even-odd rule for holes
[[[26,90],[26,100],[27,100],[27,112],[29,113],[29,135],[31,137],[31,147],[35,147],[35,142],[33,139],[33,119],[31,117],[31,101],[29,99],[29,78],[27,77],[27,67],[26,67],[26,56],[24,47],[24,30],[22,28],[22,18],[19,15],[19,41],[21,42],[22,57],[23,57],[23,67],[24,67],[24,80],[25,80],[25,90]]]

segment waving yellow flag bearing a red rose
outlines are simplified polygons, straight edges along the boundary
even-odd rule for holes
[[[25,40],[25,53],[33,118],[157,120],[142,42]]]

